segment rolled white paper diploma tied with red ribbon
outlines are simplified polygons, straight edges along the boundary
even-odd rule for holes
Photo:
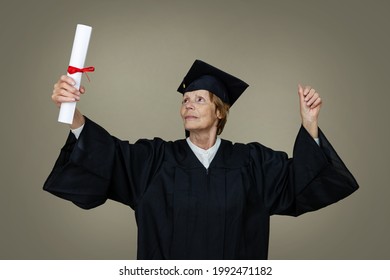
[[[76,34],[74,36],[72,53],[70,55],[70,66],[74,66],[77,68],[83,68],[85,58],[87,57],[89,39],[91,38],[92,27],[77,24]],[[80,89],[81,77],[83,73],[74,73],[69,74],[69,77],[72,77],[76,85],[77,89]],[[58,121],[62,123],[72,124],[73,116],[76,110],[76,102],[64,102],[61,104],[60,113],[58,115]]]

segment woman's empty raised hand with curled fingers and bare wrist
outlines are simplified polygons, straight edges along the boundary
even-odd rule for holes
[[[302,125],[313,138],[318,138],[318,115],[322,99],[311,86],[302,87],[298,85],[298,95]]]

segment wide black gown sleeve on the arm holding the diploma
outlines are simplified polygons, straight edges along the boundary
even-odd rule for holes
[[[69,133],[43,189],[84,209],[107,199],[134,209],[161,161],[162,143],[129,144],[86,118],[78,139]]]

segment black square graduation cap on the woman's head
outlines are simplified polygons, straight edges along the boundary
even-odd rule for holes
[[[195,60],[177,91],[184,94],[199,89],[208,90],[232,106],[248,86],[237,77],[206,62]]]

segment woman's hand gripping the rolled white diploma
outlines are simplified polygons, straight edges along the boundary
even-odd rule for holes
[[[62,75],[57,83],[54,84],[53,94],[51,99],[57,107],[63,102],[75,102],[80,100],[80,95],[85,93],[85,88],[80,86],[80,89],[74,87],[75,81],[66,75]]]

